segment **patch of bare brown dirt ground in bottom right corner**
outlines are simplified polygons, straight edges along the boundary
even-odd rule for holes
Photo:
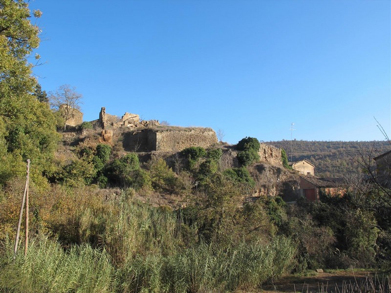
[[[375,278],[376,276],[376,278]],[[379,283],[380,288],[379,290]],[[306,275],[288,275],[278,281],[262,285],[253,293],[351,293],[368,291],[376,286],[376,292],[390,293],[390,279],[373,271],[308,272]],[[352,288],[361,288],[353,291]],[[248,292],[249,293],[249,292]]]

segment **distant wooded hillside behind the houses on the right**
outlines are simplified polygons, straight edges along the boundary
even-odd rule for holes
[[[291,141],[265,142],[267,145],[285,149],[289,161],[305,159],[315,165],[316,176],[344,177],[359,173],[362,167],[357,162],[361,154],[372,151],[372,157],[391,150],[386,141],[373,142],[328,142],[328,141]],[[367,155],[368,156],[368,155]]]

